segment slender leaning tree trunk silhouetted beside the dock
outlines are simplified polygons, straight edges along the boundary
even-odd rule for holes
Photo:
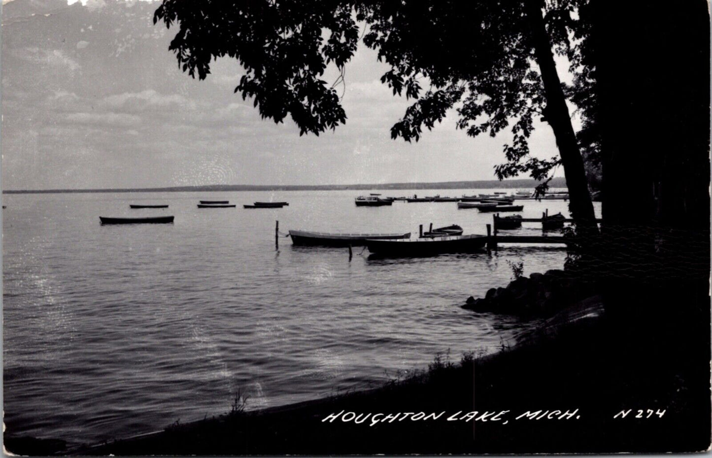
[[[525,0],[527,13],[532,25],[532,39],[535,58],[541,72],[546,96],[545,116],[556,137],[561,163],[564,166],[566,186],[569,189],[569,209],[575,220],[580,235],[595,235],[598,233],[593,203],[588,192],[586,171],[583,166],[581,151],[576,142],[574,128],[571,125],[569,109],[561,88],[561,81],[556,72],[551,43],[542,16],[540,1]]]

